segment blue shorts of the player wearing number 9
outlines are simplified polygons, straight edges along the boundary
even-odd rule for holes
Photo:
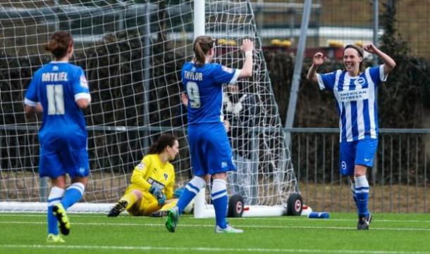
[[[222,122],[188,125],[192,172],[202,177],[236,170],[231,146]]]

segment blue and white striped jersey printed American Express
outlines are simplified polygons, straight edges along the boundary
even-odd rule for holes
[[[340,142],[360,139],[377,139],[378,110],[376,88],[385,82],[383,65],[367,68],[357,77],[350,77],[345,70],[317,74],[321,90],[333,90],[340,116]]]

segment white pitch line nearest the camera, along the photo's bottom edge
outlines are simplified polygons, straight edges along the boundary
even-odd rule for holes
[[[288,248],[206,248],[206,247],[159,247],[159,246],[62,246],[62,245],[24,245],[0,244],[0,248],[29,249],[85,249],[85,250],[166,250],[189,252],[246,252],[246,253],[348,253],[348,254],[429,254],[429,251],[403,250],[320,250],[320,249],[288,249]]]

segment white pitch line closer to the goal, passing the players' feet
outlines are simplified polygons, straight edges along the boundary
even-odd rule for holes
[[[0,224],[47,224],[46,222],[20,222],[20,221],[7,221],[0,222]],[[74,225],[91,225],[91,226],[135,226],[135,227],[164,227],[164,224],[156,223],[104,223],[104,222],[72,222]],[[357,230],[355,227],[324,227],[324,226],[269,226],[269,225],[236,225],[237,227],[250,228],[250,229],[338,229],[338,230]],[[213,224],[180,224],[179,227],[214,227]],[[380,231],[430,231],[426,228],[407,228],[407,227],[371,227],[371,230]]]

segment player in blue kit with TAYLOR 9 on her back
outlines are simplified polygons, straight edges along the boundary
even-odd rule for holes
[[[212,177],[211,199],[216,217],[216,233],[242,233],[226,222],[227,174],[236,170],[232,161],[230,142],[223,124],[223,84],[252,76],[252,51],[254,43],[244,39],[241,49],[245,52],[243,68],[231,69],[214,58],[214,39],[207,35],[195,39],[193,61],[182,68],[182,83],[188,95],[188,142],[191,164],[195,177],[185,186],[178,205],[168,212],[166,228],[174,232],[179,215],[195,195]]]

